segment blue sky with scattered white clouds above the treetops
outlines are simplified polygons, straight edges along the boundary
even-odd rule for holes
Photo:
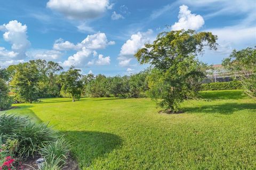
[[[125,75],[147,67],[133,54],[166,30],[218,35],[217,51],[200,60],[221,63],[231,50],[256,45],[256,1],[0,0],[0,66],[38,58],[84,74]],[[170,28],[166,28],[169,25]]]

